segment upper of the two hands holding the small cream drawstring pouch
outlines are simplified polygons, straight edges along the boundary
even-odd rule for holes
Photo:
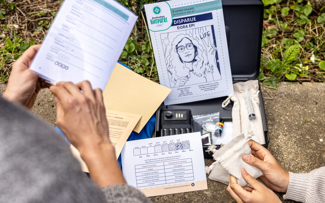
[[[242,159],[262,170],[264,175],[259,179],[268,187],[278,192],[287,192],[289,173],[280,166],[265,147],[253,140],[249,140],[248,144],[252,149],[253,156],[243,155]]]

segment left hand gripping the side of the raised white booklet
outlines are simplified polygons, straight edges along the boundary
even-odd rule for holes
[[[38,75],[29,69],[32,59],[41,45],[32,45],[12,65],[9,82],[3,97],[31,109],[38,92],[45,85]]]

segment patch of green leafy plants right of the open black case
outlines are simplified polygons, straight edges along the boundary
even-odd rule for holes
[[[258,79],[273,88],[283,80],[323,82],[325,13],[314,10],[305,0],[263,2],[263,43]]]

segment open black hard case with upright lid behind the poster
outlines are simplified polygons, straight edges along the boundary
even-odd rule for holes
[[[157,1],[160,2],[160,1]],[[259,75],[264,5],[261,0],[222,0],[226,26],[228,51],[233,83],[255,80]],[[261,90],[261,87],[259,86]],[[155,136],[161,136],[162,109],[191,109],[192,115],[209,114],[219,111],[220,117],[231,121],[233,102],[226,108],[221,104],[227,97],[219,97],[197,102],[161,105],[156,112]],[[262,94],[259,93],[262,112],[265,146],[269,143],[266,116]],[[211,153],[205,152],[208,146],[203,146],[204,158],[211,159]],[[220,145],[217,146],[220,148]]]

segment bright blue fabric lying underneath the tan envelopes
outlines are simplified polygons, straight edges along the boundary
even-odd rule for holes
[[[120,63],[120,62],[118,62],[118,63]],[[127,65],[125,65],[123,63],[120,63],[120,64],[122,64],[124,67],[130,69]],[[149,121],[147,122],[147,124],[142,128],[142,130],[140,131],[140,133],[136,133],[136,132],[132,131],[132,133],[130,134],[130,136],[127,139],[127,141],[141,140],[141,139],[150,138],[152,136],[153,130],[155,129],[155,123],[156,123],[156,116],[155,116],[155,114],[153,114],[151,116],[151,118],[149,119]],[[65,141],[70,146],[71,143],[69,142],[69,140],[67,139],[67,137],[64,135],[64,133],[59,129],[58,126],[55,127],[55,130],[57,130],[62,135],[62,137],[65,139]],[[120,154],[120,156],[119,156],[119,158],[117,160],[119,161],[120,167],[122,168],[121,154]]]

